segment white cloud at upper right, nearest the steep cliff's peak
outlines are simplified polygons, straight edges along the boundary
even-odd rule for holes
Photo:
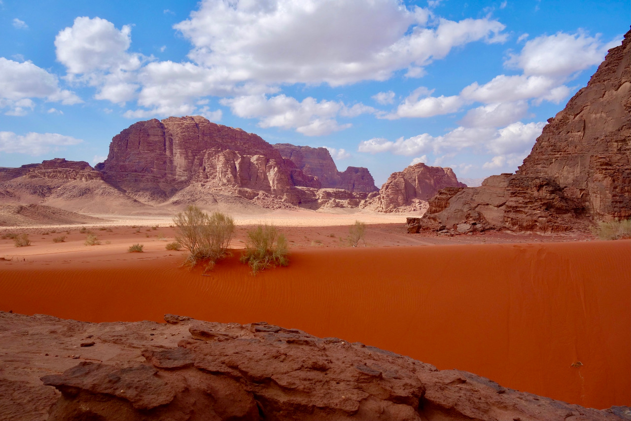
[[[618,44],[620,39],[603,43],[598,35],[557,32],[529,40],[519,54],[511,54],[504,64],[508,68],[523,69],[526,75],[567,78],[600,64],[607,50]]]

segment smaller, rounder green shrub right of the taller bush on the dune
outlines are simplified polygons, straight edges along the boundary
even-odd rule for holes
[[[255,230],[247,232],[245,252],[240,261],[249,264],[252,275],[256,275],[265,268],[287,266],[288,254],[285,235],[279,233],[273,225],[259,225]]]

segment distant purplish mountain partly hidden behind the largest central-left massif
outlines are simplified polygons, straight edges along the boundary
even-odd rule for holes
[[[317,177],[322,188],[343,189],[351,192],[379,191],[367,168],[347,167],[339,172],[326,148],[295,146],[289,143],[272,145],[283,158],[291,160],[305,175]]]

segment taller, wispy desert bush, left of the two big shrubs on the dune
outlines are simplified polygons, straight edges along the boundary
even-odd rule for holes
[[[220,212],[211,215],[197,206],[190,205],[173,218],[177,233],[175,240],[189,251],[186,263],[195,266],[208,261],[206,268],[227,256],[228,244],[234,234],[235,224],[231,216]]]

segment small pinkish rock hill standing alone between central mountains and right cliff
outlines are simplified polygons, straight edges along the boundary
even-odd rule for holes
[[[428,199],[445,187],[466,187],[451,168],[428,167],[424,163],[410,165],[393,172],[379,190],[372,206],[383,212],[422,211]]]

